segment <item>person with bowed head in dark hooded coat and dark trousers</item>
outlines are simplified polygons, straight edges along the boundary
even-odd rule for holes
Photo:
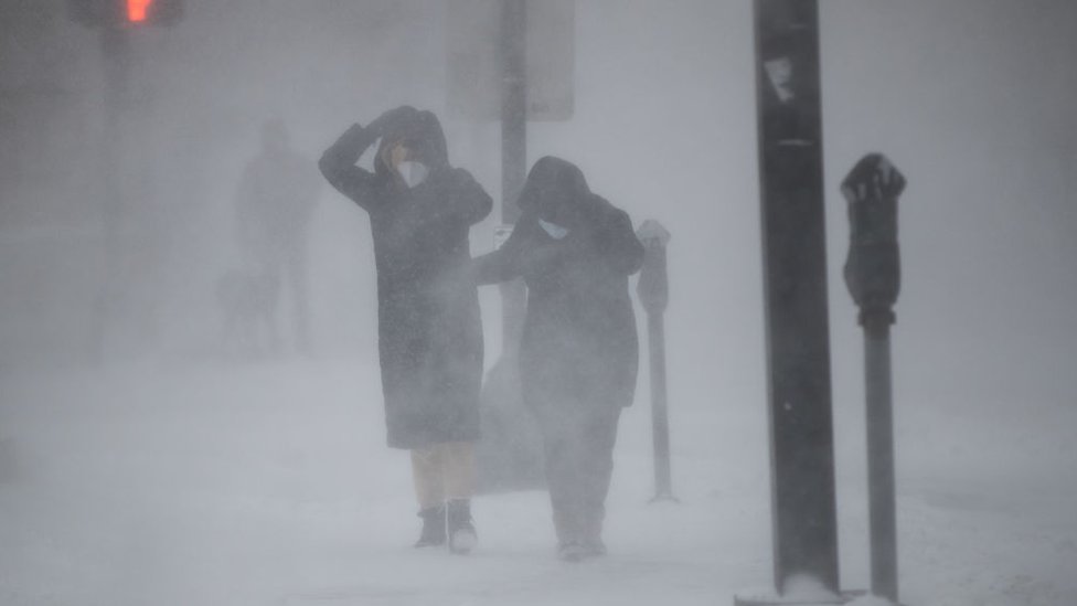
[[[543,435],[558,554],[575,561],[606,553],[617,423],[632,403],[639,359],[628,276],[643,247],[628,214],[558,158],[535,162],[520,210],[504,245],[476,259],[476,274],[480,284],[523,277],[527,285],[523,400]]]

